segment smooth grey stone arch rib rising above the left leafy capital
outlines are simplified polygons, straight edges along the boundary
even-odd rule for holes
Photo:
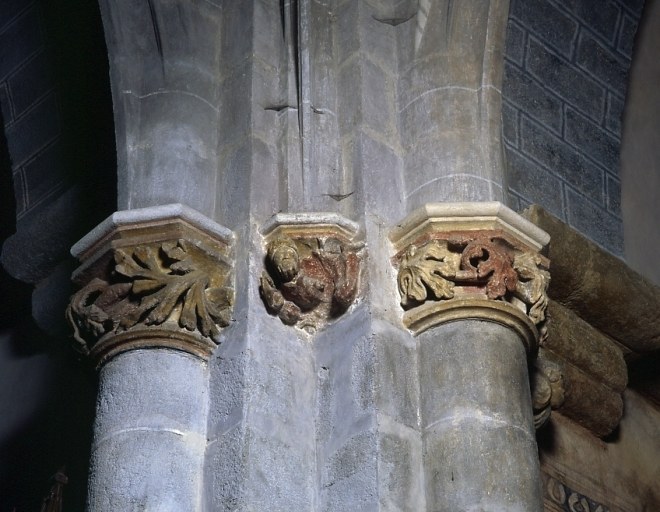
[[[212,2],[101,2],[120,209],[182,202],[213,217],[223,10]]]

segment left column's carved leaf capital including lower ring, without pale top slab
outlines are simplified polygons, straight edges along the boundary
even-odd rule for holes
[[[133,345],[207,357],[230,321],[234,292],[226,251],[203,238],[110,247],[67,308],[80,350],[98,361]]]

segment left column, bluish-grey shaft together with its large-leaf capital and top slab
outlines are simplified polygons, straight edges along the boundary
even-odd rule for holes
[[[99,368],[89,510],[200,510],[232,238],[166,205],[118,212],[74,247],[82,288],[67,316]]]

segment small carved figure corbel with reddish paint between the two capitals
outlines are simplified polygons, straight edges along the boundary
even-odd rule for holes
[[[268,311],[307,332],[342,315],[358,294],[358,228],[332,213],[275,215],[262,231],[260,292]]]

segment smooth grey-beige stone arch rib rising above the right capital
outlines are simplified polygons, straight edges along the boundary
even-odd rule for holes
[[[502,201],[508,0],[423,0],[410,14],[414,23],[402,24],[398,38],[409,209],[449,197]]]

